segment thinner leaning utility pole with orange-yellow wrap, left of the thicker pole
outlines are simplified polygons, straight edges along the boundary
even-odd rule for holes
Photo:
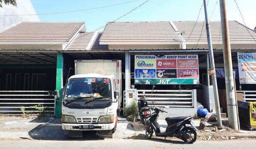
[[[211,33],[210,33],[210,25],[209,25],[208,12],[207,12],[207,3],[206,3],[206,0],[203,0],[203,2],[204,2],[204,15],[205,15],[205,19],[206,19],[206,33],[207,33],[207,41],[208,41],[208,49],[209,49],[210,67],[214,68],[214,71],[215,71],[213,48],[212,48],[212,37],[211,37]],[[217,122],[218,122],[218,126],[222,126],[216,74],[212,75],[212,82],[213,82],[213,92],[214,92]]]

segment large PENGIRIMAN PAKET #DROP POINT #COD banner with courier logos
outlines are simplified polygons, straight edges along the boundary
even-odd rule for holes
[[[198,55],[135,55],[134,84],[199,84]]]

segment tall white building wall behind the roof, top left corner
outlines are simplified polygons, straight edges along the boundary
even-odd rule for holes
[[[1,15],[25,15],[36,14],[36,10],[30,0],[16,0],[17,7],[5,5],[2,2]],[[40,21],[37,15],[32,16],[0,16],[0,31],[9,28],[21,21]]]

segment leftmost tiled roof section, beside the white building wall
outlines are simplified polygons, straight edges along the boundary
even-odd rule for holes
[[[68,42],[84,22],[21,22],[0,33],[0,42]]]

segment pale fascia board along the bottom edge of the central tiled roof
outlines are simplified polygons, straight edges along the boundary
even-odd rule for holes
[[[177,44],[177,41],[168,41],[168,42],[103,42],[101,41],[100,44],[124,44],[124,45],[130,45],[130,44],[139,44],[139,45],[145,45],[145,44]]]

